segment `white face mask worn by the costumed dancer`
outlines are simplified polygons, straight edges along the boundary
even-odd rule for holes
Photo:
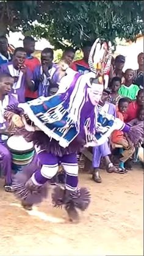
[[[90,97],[90,101],[94,106],[96,106],[99,103],[99,100],[101,100],[101,97],[103,95],[103,84],[92,84],[92,87],[88,88],[88,95]]]

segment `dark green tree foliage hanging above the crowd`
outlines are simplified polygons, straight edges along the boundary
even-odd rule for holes
[[[1,34],[21,29],[56,48],[96,37],[134,40],[143,33],[143,11],[143,1],[0,1]]]

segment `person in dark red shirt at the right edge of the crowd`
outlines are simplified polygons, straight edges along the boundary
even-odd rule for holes
[[[137,117],[137,112],[139,111],[140,108],[143,107],[144,103],[144,95],[143,95],[143,90],[139,90],[137,94],[137,100],[132,101],[129,106],[128,110],[126,111],[126,115],[124,117],[124,122],[128,123],[132,119],[135,119]]]

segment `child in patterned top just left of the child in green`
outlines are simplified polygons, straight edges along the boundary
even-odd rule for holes
[[[121,87],[121,78],[115,76],[112,78],[112,82],[110,84],[111,93],[109,94],[108,101],[109,103],[118,105],[118,101],[121,98],[121,95],[118,93],[118,90]]]

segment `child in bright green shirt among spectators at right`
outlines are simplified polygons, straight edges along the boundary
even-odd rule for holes
[[[137,93],[139,92],[139,86],[136,84],[132,84],[134,79],[134,70],[127,69],[124,73],[125,82],[121,84],[118,93],[122,97],[128,97],[130,100],[135,100],[137,97]]]

